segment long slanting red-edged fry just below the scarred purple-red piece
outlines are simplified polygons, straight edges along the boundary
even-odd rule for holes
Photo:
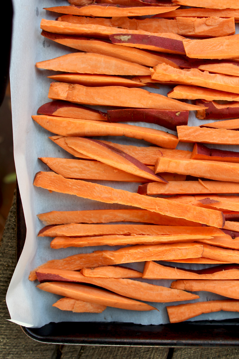
[[[166,63],[178,68],[178,64],[187,64],[187,61],[178,55],[156,52],[153,53],[127,46],[122,47],[100,39],[65,34],[53,34],[47,31],[42,31],[42,36],[62,45],[76,48],[77,50],[117,57],[118,59],[135,62],[136,64],[144,66],[156,66],[158,64]]]

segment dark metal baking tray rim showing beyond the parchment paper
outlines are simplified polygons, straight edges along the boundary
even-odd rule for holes
[[[16,191],[16,259],[24,246],[26,226]],[[167,325],[61,322],[40,328],[21,327],[32,339],[54,344],[134,346],[239,346],[239,319],[194,321]]]

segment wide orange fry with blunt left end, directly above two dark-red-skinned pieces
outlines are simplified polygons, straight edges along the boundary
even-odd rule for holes
[[[93,106],[154,108],[176,111],[201,109],[201,106],[180,102],[144,89],[126,88],[123,86],[104,86],[98,88],[53,82],[50,85],[48,97]]]

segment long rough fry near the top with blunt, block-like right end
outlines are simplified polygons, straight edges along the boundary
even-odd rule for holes
[[[113,26],[128,30],[144,30],[153,33],[176,33],[183,36],[196,37],[215,37],[226,36],[235,33],[234,18],[176,18],[168,19],[129,19],[128,17],[118,17],[111,19],[85,18],[74,15],[63,15],[57,19],[75,24],[97,24],[103,26]]]

